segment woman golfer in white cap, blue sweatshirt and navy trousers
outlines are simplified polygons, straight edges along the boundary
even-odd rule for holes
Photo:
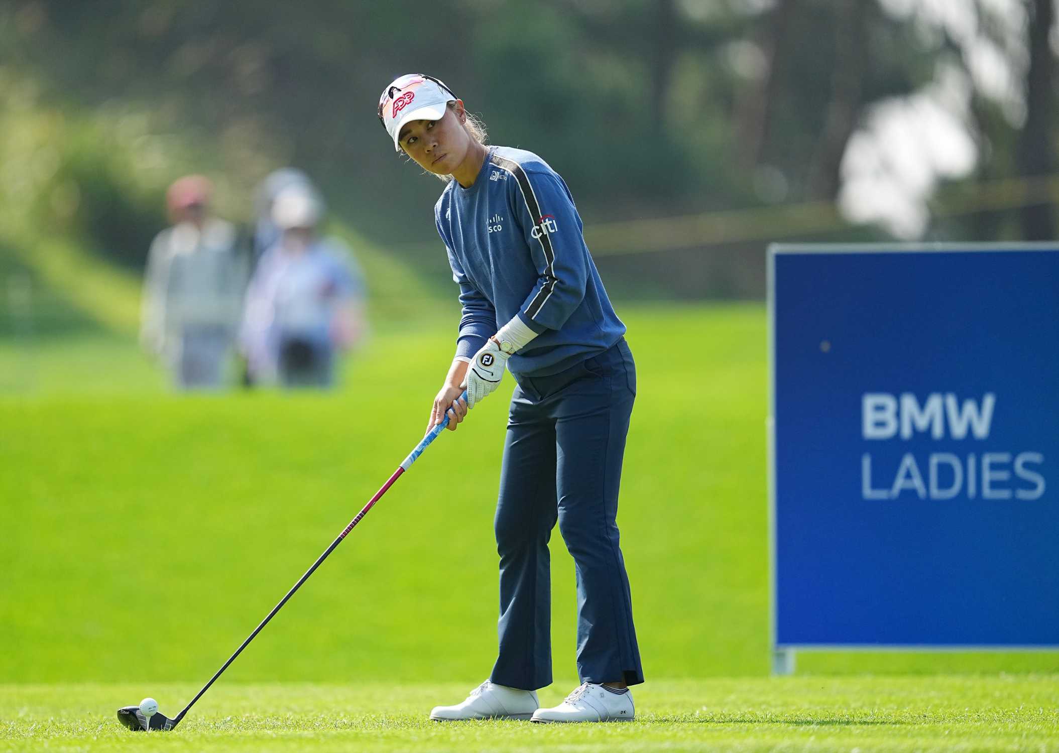
[[[537,155],[486,146],[481,123],[436,78],[394,80],[379,119],[396,150],[448,182],[434,220],[463,316],[428,429],[447,414],[454,430],[505,366],[518,382],[496,516],[499,656],[465,701],[430,718],[631,720],[628,686],[644,678],[615,518],[635,366],[573,198]],[[548,541],[556,521],[576,563],[582,684],[541,709],[536,691],[552,683]]]

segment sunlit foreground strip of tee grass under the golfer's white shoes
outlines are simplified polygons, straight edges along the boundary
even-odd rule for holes
[[[570,683],[567,683],[568,685]],[[636,721],[436,723],[457,684],[217,686],[177,730],[132,733],[119,705],[170,716],[194,685],[0,686],[0,750],[29,751],[1054,751],[1059,677],[674,680],[636,688]],[[553,685],[541,701],[561,700]]]

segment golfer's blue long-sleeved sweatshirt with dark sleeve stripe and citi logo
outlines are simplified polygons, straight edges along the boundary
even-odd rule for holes
[[[507,362],[516,376],[558,374],[625,334],[570,190],[537,155],[490,146],[469,189],[448,184],[434,219],[460,285],[456,356],[473,356],[515,316],[538,333]]]

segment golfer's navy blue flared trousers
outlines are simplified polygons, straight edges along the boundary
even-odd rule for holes
[[[618,548],[617,488],[636,394],[632,353],[609,351],[548,377],[517,377],[497,503],[500,653],[490,680],[552,684],[551,560],[559,532],[577,576],[582,682],[644,681]]]

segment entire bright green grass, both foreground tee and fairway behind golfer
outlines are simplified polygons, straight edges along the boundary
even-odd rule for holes
[[[430,447],[179,734],[151,745],[1059,748],[1052,675],[702,680],[769,669],[764,309],[622,313],[640,383],[618,523],[648,678],[636,691],[644,723],[425,721],[495,658],[507,381]],[[35,375],[33,389],[8,381],[0,396],[6,745],[114,746],[129,736],[114,710],[145,695],[176,714],[415,445],[453,334],[449,321],[383,327],[328,395],[174,395],[122,340],[0,342],[8,377]],[[573,567],[558,532],[553,552],[560,679],[548,701],[576,684]],[[1054,673],[1059,657],[803,655],[798,667]]]

